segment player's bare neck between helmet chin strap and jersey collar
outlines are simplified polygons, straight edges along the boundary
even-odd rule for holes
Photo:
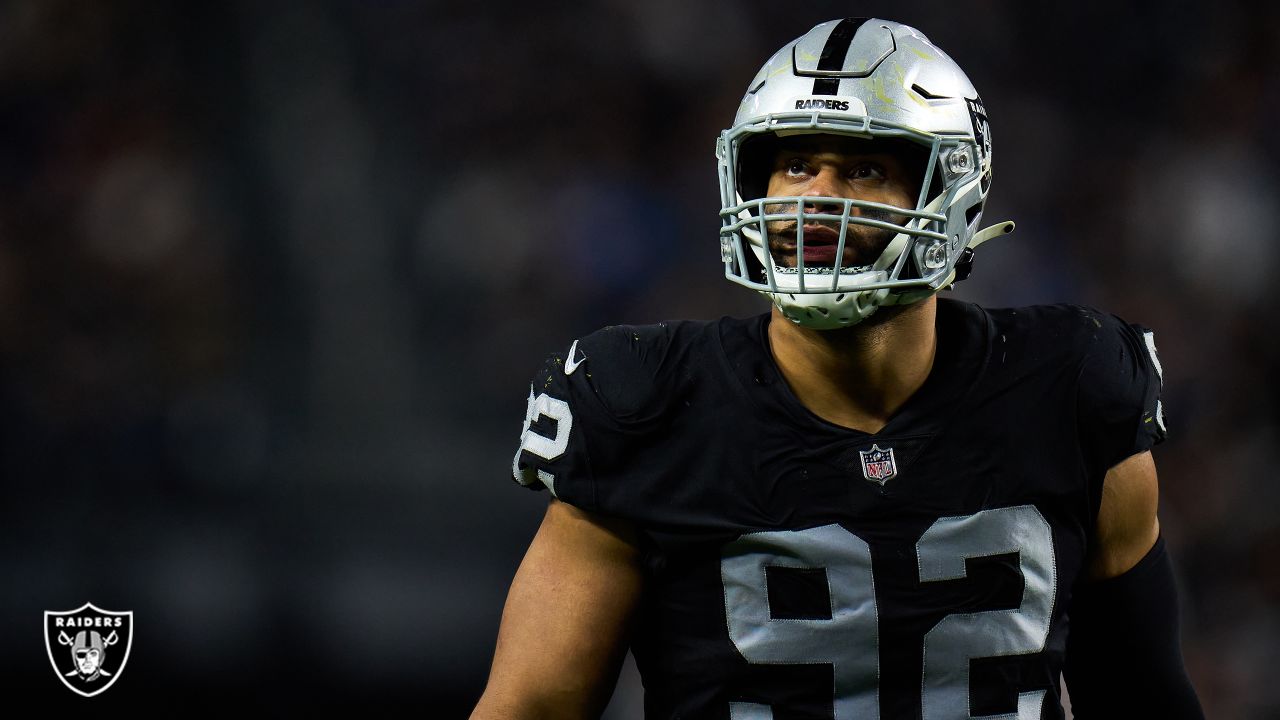
[[[882,307],[836,331],[796,325],[774,307],[773,360],[791,392],[819,418],[877,433],[920,389],[937,351],[937,300]]]

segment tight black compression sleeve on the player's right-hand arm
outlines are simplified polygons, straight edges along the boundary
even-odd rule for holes
[[[1079,588],[1069,619],[1064,673],[1078,720],[1203,720],[1183,665],[1164,538],[1128,573]]]

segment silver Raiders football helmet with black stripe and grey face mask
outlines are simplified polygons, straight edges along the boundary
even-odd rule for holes
[[[753,143],[804,133],[905,142],[924,163],[915,208],[765,196],[771,165]],[[974,247],[1014,229],[1006,222],[978,231],[991,188],[991,131],[978,92],[946,53],[901,23],[831,20],[778,50],[748,86],[716,156],[724,277],[809,328],[847,327],[881,306],[923,300],[964,279]],[[771,252],[769,223],[795,228],[794,266]],[[806,223],[838,228],[832,263],[806,266]],[[870,264],[845,266],[851,225],[892,233]]]

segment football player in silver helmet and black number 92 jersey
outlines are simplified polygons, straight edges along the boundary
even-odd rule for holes
[[[534,377],[549,491],[474,717],[1202,717],[1151,447],[1153,336],[937,297],[992,138],[919,31],[819,24],[717,146],[728,279],[768,314],[612,327]]]

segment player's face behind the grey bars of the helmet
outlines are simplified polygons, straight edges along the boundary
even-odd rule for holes
[[[832,135],[805,135],[782,138],[773,155],[768,195],[813,196],[868,200],[895,208],[914,209],[919,188],[919,168],[884,143]],[[769,204],[767,213],[795,213],[795,204]],[[832,202],[805,202],[805,213],[838,215],[842,208]],[[852,208],[851,217],[905,224],[906,217],[887,210]],[[796,266],[796,220],[768,223],[769,252],[782,266]],[[842,268],[870,265],[892,240],[893,231],[850,224],[845,240]],[[809,220],[804,225],[806,268],[831,268],[840,240],[838,222]]]

